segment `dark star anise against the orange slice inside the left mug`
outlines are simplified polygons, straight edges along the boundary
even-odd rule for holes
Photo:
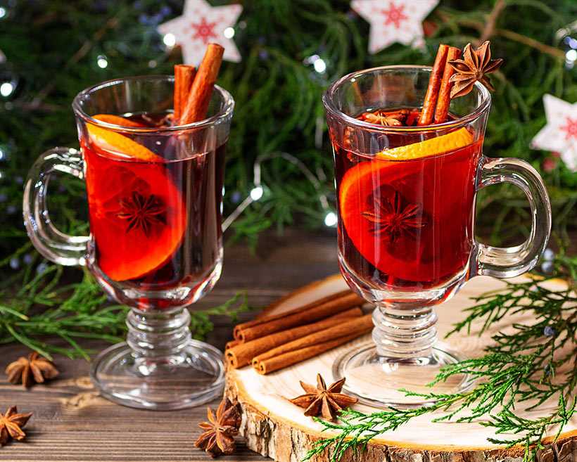
[[[128,220],[126,231],[141,228],[148,237],[153,223],[166,223],[165,208],[154,194],[143,197],[132,191],[129,198],[120,199],[120,206],[122,210],[116,216]]]

